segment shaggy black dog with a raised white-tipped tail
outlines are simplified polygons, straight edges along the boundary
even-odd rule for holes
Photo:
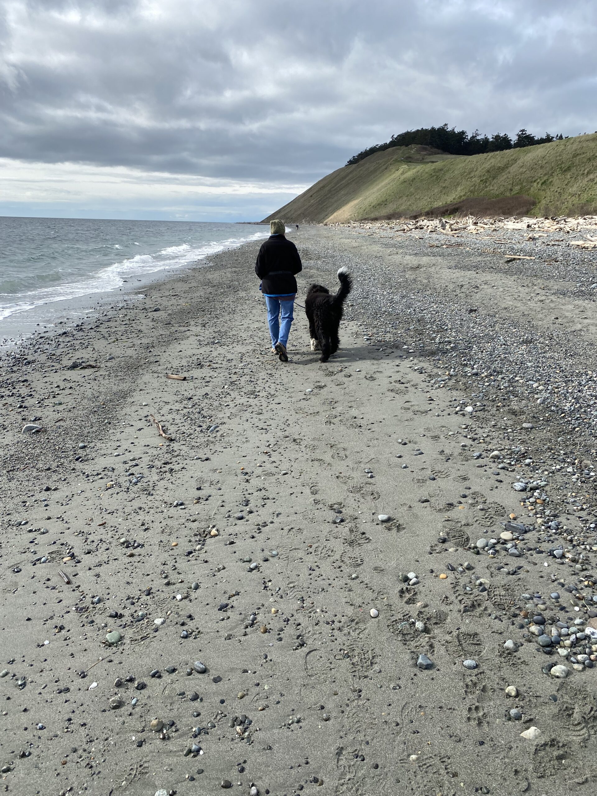
[[[320,362],[327,362],[333,353],[338,351],[340,340],[338,329],[342,319],[342,308],[345,298],[353,287],[349,272],[345,268],[338,271],[340,287],[333,296],[327,287],[311,285],[306,294],[305,310],[309,320],[311,351],[321,350]]]

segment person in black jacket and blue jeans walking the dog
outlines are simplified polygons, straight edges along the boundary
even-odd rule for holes
[[[286,347],[297,291],[295,274],[302,271],[302,263],[295,244],[287,240],[284,222],[270,221],[270,231],[271,235],[259,249],[255,272],[261,279],[259,290],[267,306],[271,350],[278,354],[280,362],[287,362]]]

